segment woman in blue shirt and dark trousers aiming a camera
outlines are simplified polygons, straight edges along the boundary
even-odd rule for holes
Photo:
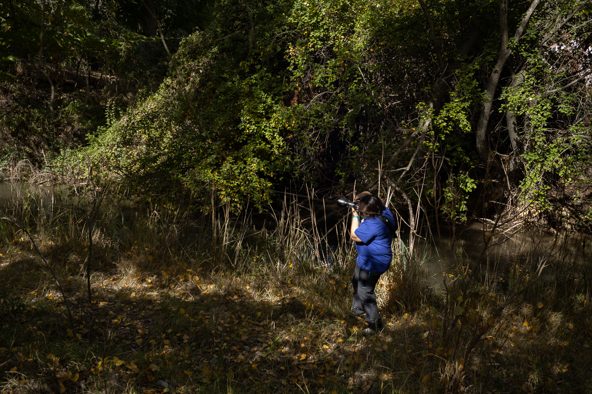
[[[391,230],[378,219],[382,215],[395,223],[390,210],[380,198],[364,191],[355,197],[359,201],[359,213],[352,209],[352,227],[350,236],[356,242],[358,259],[353,273],[352,311],[359,316],[366,314],[368,327],[363,334],[371,335],[382,330],[382,317],[378,313],[374,289],[382,273],[391,266],[392,250]]]

